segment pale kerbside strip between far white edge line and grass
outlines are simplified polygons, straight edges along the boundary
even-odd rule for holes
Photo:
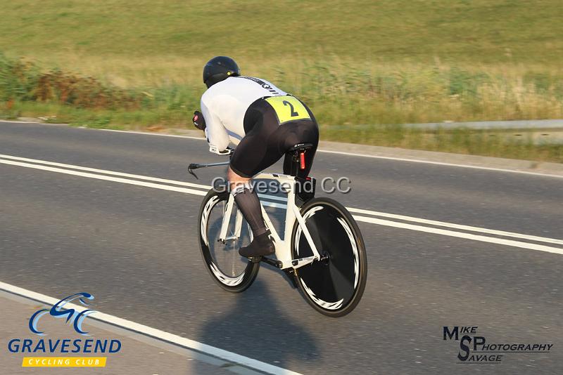
[[[61,126],[65,124],[44,124],[33,122],[33,119],[26,121],[6,121],[20,124],[42,124],[46,126]],[[84,128],[90,130],[98,130]],[[110,129],[101,129],[108,131]],[[115,130],[118,131],[118,130]],[[119,132],[119,131],[118,131]],[[201,131],[191,129],[161,129],[159,131],[122,131],[128,133],[144,133],[157,136],[179,136],[189,138],[205,139]],[[451,166],[468,166],[483,169],[501,169],[507,171],[520,171],[526,173],[537,173],[545,175],[563,176],[563,164],[553,162],[537,162],[533,160],[505,159],[501,157],[484,157],[468,154],[453,154],[449,152],[434,152],[424,150],[409,150],[398,147],[383,147],[374,145],[361,145],[358,143],[340,143],[329,140],[321,140],[319,143],[320,152],[334,152],[349,154],[350,156],[375,157],[381,159],[395,159],[403,162],[422,162],[430,164],[442,164]]]

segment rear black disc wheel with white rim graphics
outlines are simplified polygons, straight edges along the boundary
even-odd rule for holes
[[[367,279],[367,256],[358,224],[344,206],[329,198],[310,200],[301,208],[301,216],[324,260],[296,270],[299,289],[320,313],[346,315],[360,302]],[[312,256],[297,222],[291,251],[293,258]]]

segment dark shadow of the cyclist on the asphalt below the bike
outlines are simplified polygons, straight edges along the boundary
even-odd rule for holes
[[[277,307],[271,293],[257,279],[246,292],[234,296],[232,309],[205,323],[201,341],[279,367],[290,361],[317,360],[313,336]]]

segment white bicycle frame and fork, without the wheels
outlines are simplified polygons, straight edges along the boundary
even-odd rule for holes
[[[296,179],[293,176],[288,176],[284,174],[278,173],[260,173],[258,176],[254,178],[260,178],[265,180],[276,180],[278,181],[284,192],[287,194],[287,205],[286,205],[286,221],[284,227],[284,238],[281,239],[278,233],[276,232],[272,221],[270,221],[270,217],[268,217],[262,202],[260,202],[260,209],[262,209],[262,217],[266,223],[267,228],[272,233],[274,245],[275,245],[275,255],[277,261],[278,268],[282,270],[286,268],[300,268],[303,265],[308,265],[313,261],[319,261],[321,259],[321,255],[319,251],[317,251],[317,247],[312,240],[309,230],[305,225],[305,220],[301,213],[299,212],[298,207],[295,203],[295,189],[296,189]],[[223,213],[223,221],[221,223],[221,232],[218,241],[227,242],[231,240],[238,239],[241,235],[241,227],[242,227],[242,213],[240,210],[236,211],[236,218],[234,223],[234,231],[233,235],[227,237],[227,230],[229,228],[229,224],[231,221],[232,216],[232,209],[234,205],[234,197],[233,195],[229,195],[229,199],[227,201],[227,206],[225,207]],[[299,227],[301,228],[303,235],[307,239],[307,242],[312,250],[313,255],[308,256],[305,258],[296,258],[293,259],[291,257],[291,231],[293,230],[293,225],[295,222],[298,222]]]

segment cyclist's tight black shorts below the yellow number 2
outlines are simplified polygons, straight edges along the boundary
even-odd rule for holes
[[[301,103],[303,104],[303,103]],[[244,136],[231,158],[231,169],[239,176],[251,178],[281,159],[298,143],[312,143],[305,152],[305,169],[298,176],[308,176],[319,144],[319,126],[312,112],[303,104],[310,118],[279,124],[278,116],[266,99],[258,99],[244,115]],[[289,174],[291,157],[284,160],[284,173]]]

